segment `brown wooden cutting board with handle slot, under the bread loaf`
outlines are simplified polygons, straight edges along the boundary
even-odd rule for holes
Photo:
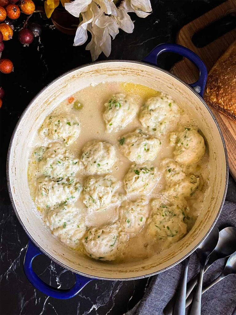
[[[212,24],[212,22],[219,20],[228,14],[236,14],[235,0],[228,0],[222,3],[196,20],[183,26],[177,34],[176,42],[198,54],[205,62],[208,71],[211,70],[217,59],[225,52],[229,45],[236,40],[236,29],[229,31],[202,48],[197,48],[194,45],[192,37],[196,32],[204,29],[206,26]],[[193,83],[199,77],[198,70],[195,68],[194,64],[186,58],[176,63],[171,69],[171,72],[187,83]],[[215,109],[211,108],[211,110],[215,115],[224,135],[228,151],[229,169],[236,180],[236,123],[218,113]]]

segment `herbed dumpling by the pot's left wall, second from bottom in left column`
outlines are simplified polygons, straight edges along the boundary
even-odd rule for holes
[[[59,204],[72,203],[79,198],[81,184],[65,185],[60,182],[39,178],[36,188],[35,203],[40,208],[59,206]]]

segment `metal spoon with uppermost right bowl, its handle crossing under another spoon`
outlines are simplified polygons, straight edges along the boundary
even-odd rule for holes
[[[236,251],[235,239],[236,239],[236,228],[233,226],[228,226],[219,232],[218,243],[216,245],[216,248],[211,253],[207,264],[205,265],[204,272],[216,260],[220,258],[228,257],[234,251]],[[186,298],[188,297],[188,295],[190,295],[190,293],[194,289],[197,281],[198,281],[198,276],[194,277],[192,280],[188,282],[187,290],[186,290]],[[168,302],[168,304],[164,308],[163,312],[165,315],[172,315],[175,298],[176,298],[176,295],[172,297],[172,299]]]

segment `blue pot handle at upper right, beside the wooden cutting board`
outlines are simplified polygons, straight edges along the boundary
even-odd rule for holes
[[[199,69],[199,79],[195,83],[189,84],[194,90],[203,97],[206,79],[207,69],[204,62],[195,54],[192,50],[177,44],[160,44],[156,46],[142,61],[157,65],[157,58],[162,53],[171,52],[188,58]]]

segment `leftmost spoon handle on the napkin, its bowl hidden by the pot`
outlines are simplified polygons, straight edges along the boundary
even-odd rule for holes
[[[187,257],[185,259],[183,281],[180,284],[179,290],[177,292],[177,298],[176,298],[174,312],[173,312],[175,315],[185,315],[185,299],[186,299],[188,263],[189,263],[189,257]]]

